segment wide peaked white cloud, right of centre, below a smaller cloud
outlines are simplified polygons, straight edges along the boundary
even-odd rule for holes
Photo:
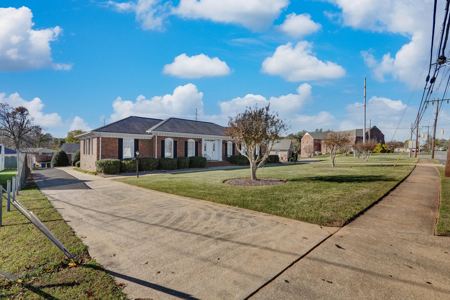
[[[262,73],[279,75],[287,81],[309,81],[339,78],[345,69],[337,63],[322,61],[312,53],[312,44],[300,41],[279,46],[275,53],[262,62]]]

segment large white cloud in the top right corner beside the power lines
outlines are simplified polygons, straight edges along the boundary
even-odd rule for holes
[[[385,76],[414,87],[431,43],[432,0],[329,0],[341,10],[342,22],[355,29],[390,32],[409,37],[410,41],[396,54],[385,53],[376,58],[374,52],[362,51],[374,78],[384,81]],[[441,24],[445,1],[438,1],[437,24]],[[421,20],[418,22],[418,20]],[[439,25],[437,25],[439,28]],[[437,32],[439,29],[437,29]]]

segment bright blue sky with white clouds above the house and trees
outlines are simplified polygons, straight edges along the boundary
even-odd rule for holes
[[[367,76],[367,125],[372,119],[386,128],[389,140],[429,51],[431,1],[367,0],[358,7],[349,0],[249,0],[244,7],[245,1],[223,0],[226,7],[216,10],[208,6],[213,0],[165,2],[2,1],[14,9],[3,11],[0,24],[26,23],[31,12],[29,29],[53,31],[40,37],[38,53],[26,49],[27,36],[8,42],[18,55],[25,51],[23,59],[0,48],[1,100],[27,106],[55,137],[129,115],[193,119],[195,108],[199,120],[225,125],[227,115],[267,101],[291,122],[291,132],[351,129],[363,125]],[[289,31],[282,24],[292,13],[302,18]],[[411,22],[417,18],[420,26]],[[10,27],[0,45],[25,34],[26,26]],[[186,56],[174,63],[180,54]],[[401,127],[414,121],[425,76]],[[438,129],[450,127],[449,115],[443,110]],[[394,138],[405,135],[401,129]]]

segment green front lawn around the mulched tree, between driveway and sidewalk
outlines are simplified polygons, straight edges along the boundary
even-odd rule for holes
[[[225,184],[249,177],[249,169],[114,179],[144,188],[325,226],[343,226],[396,186],[414,165],[356,165],[321,169],[318,164],[266,166],[257,176],[287,179],[285,184],[249,187]]]

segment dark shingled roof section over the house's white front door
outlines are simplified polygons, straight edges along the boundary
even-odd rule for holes
[[[150,127],[149,127],[150,128]],[[178,132],[187,134],[224,135],[225,127],[211,122],[168,118],[149,129],[149,131]]]

